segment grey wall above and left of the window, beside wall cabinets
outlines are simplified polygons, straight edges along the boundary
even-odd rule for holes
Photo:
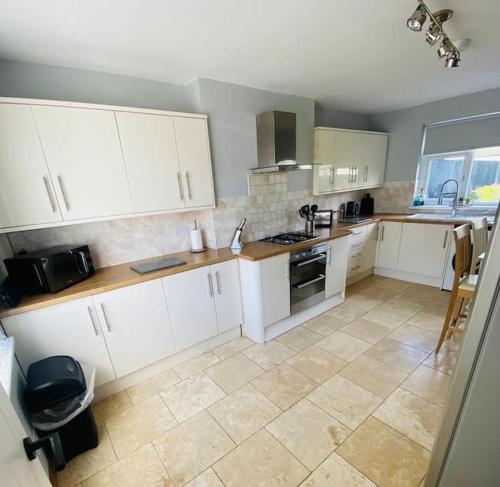
[[[425,123],[494,111],[500,111],[500,88],[374,115],[372,129],[391,134],[385,173],[386,181],[415,179],[422,127]]]

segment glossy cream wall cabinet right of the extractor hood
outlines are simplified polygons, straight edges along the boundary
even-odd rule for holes
[[[388,134],[317,127],[315,195],[373,188],[384,182]]]

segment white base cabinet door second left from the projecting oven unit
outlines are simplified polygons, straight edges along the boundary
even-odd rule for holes
[[[209,267],[162,279],[176,351],[217,335],[214,282]]]

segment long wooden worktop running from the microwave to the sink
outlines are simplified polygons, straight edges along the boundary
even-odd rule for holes
[[[127,262],[125,264],[119,264],[111,267],[103,267],[101,269],[97,269],[95,275],[93,275],[89,279],[86,279],[85,281],[75,284],[74,286],[71,286],[67,289],[64,289],[63,291],[59,291],[58,293],[39,294],[37,296],[23,298],[17,307],[7,308],[0,311],[0,319],[39,308],[45,308],[54,304],[70,301],[72,299],[92,296],[94,294],[102,293],[105,291],[111,291],[113,289],[151,281],[153,279],[171,276],[173,274],[189,271],[198,267],[217,264],[218,262],[224,262],[226,260],[240,258],[257,261],[267,259],[269,257],[274,257],[276,255],[286,254],[288,252],[295,252],[297,250],[310,247],[311,245],[326,242],[327,240],[345,237],[352,233],[351,229],[355,227],[359,227],[360,225],[368,225],[370,223],[376,223],[378,221],[433,223],[438,225],[460,225],[462,223],[470,223],[470,221],[468,220],[464,220],[463,222],[457,220],[450,221],[446,218],[443,218],[443,220],[417,220],[414,218],[409,218],[409,216],[410,215],[376,214],[373,216],[373,218],[365,220],[362,223],[358,224],[337,224],[333,228],[318,228],[316,230],[317,238],[307,240],[306,242],[295,245],[279,245],[257,241],[245,244],[240,252],[232,251],[229,248],[218,250],[208,249],[206,252],[199,254],[192,254],[189,251],[185,251],[170,254],[168,256],[157,256],[151,259],[143,259],[140,261]],[[171,267],[169,269],[149,272],[147,274],[138,274],[130,269],[130,266],[132,264],[157,260],[163,257],[178,257],[179,259],[185,260],[186,264],[177,267]]]

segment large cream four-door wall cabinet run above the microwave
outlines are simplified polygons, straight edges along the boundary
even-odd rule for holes
[[[0,99],[0,232],[214,204],[205,115]]]

